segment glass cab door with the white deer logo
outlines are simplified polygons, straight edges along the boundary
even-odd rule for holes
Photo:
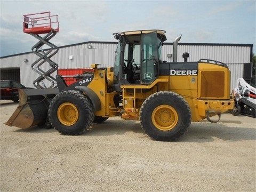
[[[141,35],[141,84],[150,84],[158,77],[157,39],[156,31]]]

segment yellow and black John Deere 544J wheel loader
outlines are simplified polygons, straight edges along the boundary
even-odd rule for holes
[[[166,62],[161,55],[165,33],[114,33],[114,67],[92,64],[92,72],[75,75],[69,86],[57,75],[58,88],[20,90],[19,106],[5,124],[53,126],[63,135],[79,135],[93,123],[120,116],[140,121],[153,140],[175,141],[191,122],[218,122],[221,113],[234,108],[227,65],[208,59],[177,62],[181,36],[173,43],[173,62]]]

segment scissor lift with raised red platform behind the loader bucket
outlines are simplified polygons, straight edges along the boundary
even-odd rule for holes
[[[32,35],[39,41],[31,48],[39,59],[31,64],[32,70],[36,71],[40,76],[33,82],[38,89],[57,87],[56,79],[51,75],[58,69],[58,64],[51,60],[53,55],[59,51],[59,47],[52,44],[50,39],[59,32],[58,15],[51,15],[51,12],[34,13],[23,15],[23,32]],[[39,34],[47,34],[44,37]],[[46,45],[43,49],[43,45]],[[49,48],[50,47],[50,48]],[[43,65],[48,62],[49,70],[45,70]],[[51,82],[47,87],[43,82],[44,79]]]

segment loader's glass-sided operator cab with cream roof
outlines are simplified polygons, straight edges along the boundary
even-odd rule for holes
[[[115,52],[113,88],[121,85],[150,84],[158,77],[162,61],[163,30],[128,31],[113,34],[118,39]]]

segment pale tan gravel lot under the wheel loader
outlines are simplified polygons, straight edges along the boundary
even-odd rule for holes
[[[255,118],[227,113],[159,142],[119,117],[79,136],[4,125],[17,106],[1,101],[0,191],[256,191]]]

